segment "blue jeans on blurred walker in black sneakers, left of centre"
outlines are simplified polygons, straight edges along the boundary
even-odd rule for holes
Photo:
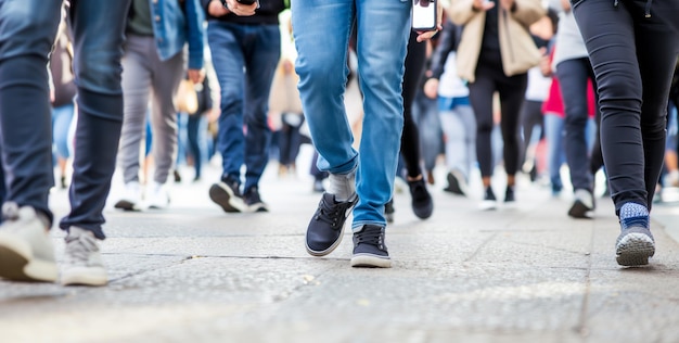
[[[259,183],[269,161],[271,129],[267,113],[269,90],[281,56],[281,35],[278,25],[210,21],[207,38],[221,89],[217,137],[221,178],[240,183],[241,166],[245,163],[245,192]]]

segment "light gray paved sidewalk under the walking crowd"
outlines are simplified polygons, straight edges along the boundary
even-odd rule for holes
[[[271,212],[230,215],[210,203],[208,176],[174,187],[167,211],[107,208],[108,287],[0,281],[0,342],[679,341],[674,206],[654,207],[651,266],[622,268],[610,200],[575,220],[569,199],[525,181],[517,206],[495,212],[437,185],[428,220],[396,194],[393,268],[353,269],[348,230],[331,255],[305,252],[319,195],[304,176],[269,174]],[[57,217],[66,199],[53,193]]]

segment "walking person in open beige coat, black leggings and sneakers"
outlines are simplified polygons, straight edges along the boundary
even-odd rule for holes
[[[492,103],[500,96],[500,127],[507,173],[504,203],[515,201],[515,175],[520,168],[520,114],[527,87],[527,71],[539,64],[528,27],[546,9],[539,0],[453,0],[449,15],[464,25],[458,48],[458,73],[469,81],[470,101],[476,116],[476,155],[484,186],[482,209],[497,207],[491,187],[494,158]]]

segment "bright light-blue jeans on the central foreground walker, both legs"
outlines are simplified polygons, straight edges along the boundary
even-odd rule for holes
[[[357,170],[360,201],[353,229],[384,227],[384,204],[392,198],[403,127],[401,82],[411,1],[295,0],[294,39],[298,56],[299,93],[318,167],[332,174]],[[358,74],[363,92],[363,131],[360,154],[344,107],[348,75],[347,49],[357,24]]]

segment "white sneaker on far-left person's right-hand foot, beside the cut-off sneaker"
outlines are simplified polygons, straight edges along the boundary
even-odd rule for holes
[[[105,285],[106,269],[94,233],[75,226],[68,229],[62,284]]]

